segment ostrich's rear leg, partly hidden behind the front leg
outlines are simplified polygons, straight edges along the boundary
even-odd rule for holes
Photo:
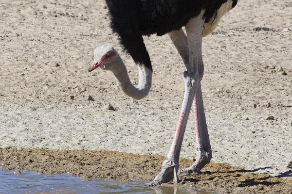
[[[169,36],[179,51],[184,65],[187,67],[189,59],[188,43],[187,37],[182,29],[179,31],[172,31],[169,33]],[[202,59],[200,60],[200,65],[203,65]],[[197,137],[197,160],[196,162],[186,169],[179,170],[179,175],[190,175],[193,172],[200,173],[201,169],[210,162],[212,158],[212,150],[209,140],[209,134],[206,124],[205,112],[203,107],[203,99],[201,93],[201,81],[199,83],[199,88],[195,94],[193,101],[193,109],[195,116],[195,129]]]

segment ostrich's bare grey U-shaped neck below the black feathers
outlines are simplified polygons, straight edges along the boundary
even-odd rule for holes
[[[121,58],[118,59],[118,63],[117,66],[119,68],[116,68],[112,73],[121,90],[129,97],[138,100],[146,97],[151,88],[152,71],[143,64],[137,65],[139,70],[139,84],[135,87],[129,79],[127,68]]]

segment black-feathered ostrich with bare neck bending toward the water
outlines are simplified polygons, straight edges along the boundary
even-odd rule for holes
[[[118,35],[124,51],[128,52],[139,69],[139,84],[135,87],[128,77],[127,68],[111,44],[94,50],[94,61],[89,71],[101,67],[110,70],[121,90],[135,99],[146,97],[152,80],[152,65],[143,41],[143,35],[166,33],[183,59],[185,85],[183,105],[172,146],[161,172],[149,187],[180,175],[200,173],[212,158],[211,145],[205,119],[201,80],[204,72],[202,37],[213,32],[220,18],[236,6],[237,0],[106,0],[110,26]],[[182,30],[185,27],[186,34]],[[193,104],[197,142],[197,160],[186,169],[179,169],[179,158],[187,119]]]

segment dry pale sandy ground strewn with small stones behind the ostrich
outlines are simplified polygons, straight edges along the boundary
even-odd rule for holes
[[[140,101],[110,72],[87,72],[96,46],[120,50],[106,13],[103,0],[0,0],[0,147],[167,153],[183,62],[167,35],[146,37],[153,86]],[[291,177],[291,13],[291,0],[242,0],[203,39],[213,162]],[[135,64],[121,55],[137,83]],[[188,159],[196,153],[193,123],[191,116],[181,154]]]

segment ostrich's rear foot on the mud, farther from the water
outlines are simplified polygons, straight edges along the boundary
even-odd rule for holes
[[[211,161],[212,151],[205,152],[203,149],[198,149],[197,160],[188,168],[180,169],[179,176],[190,176],[191,174],[201,174],[201,169]]]

